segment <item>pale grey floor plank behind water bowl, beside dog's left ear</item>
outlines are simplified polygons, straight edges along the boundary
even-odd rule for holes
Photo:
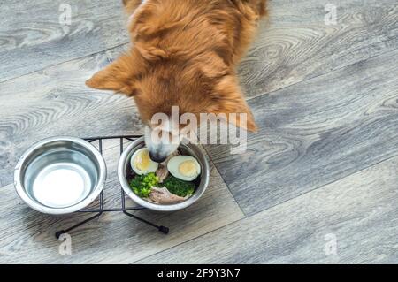
[[[121,50],[108,50],[0,84],[0,185],[34,142],[56,135],[78,137],[140,133],[132,99],[85,87],[84,82]]]

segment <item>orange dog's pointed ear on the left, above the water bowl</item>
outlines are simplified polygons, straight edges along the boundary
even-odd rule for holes
[[[102,71],[86,81],[89,88],[113,90],[117,93],[134,95],[134,61],[131,56],[122,55]]]

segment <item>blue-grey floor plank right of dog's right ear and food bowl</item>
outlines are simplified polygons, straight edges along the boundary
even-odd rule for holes
[[[398,154],[398,50],[249,101],[248,150],[206,149],[249,215]]]

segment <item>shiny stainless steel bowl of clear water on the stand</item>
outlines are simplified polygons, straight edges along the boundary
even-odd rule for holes
[[[15,168],[19,197],[34,210],[64,215],[86,208],[103,190],[106,165],[87,141],[54,137],[28,149]]]

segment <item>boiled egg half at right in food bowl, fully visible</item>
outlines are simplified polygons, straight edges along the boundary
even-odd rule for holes
[[[174,156],[167,163],[167,170],[173,177],[192,181],[201,174],[201,165],[193,156]]]

